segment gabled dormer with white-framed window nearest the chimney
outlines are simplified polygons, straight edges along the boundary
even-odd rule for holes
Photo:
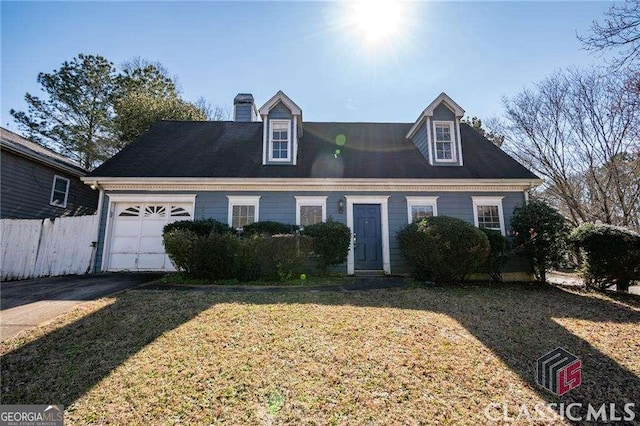
[[[295,165],[302,137],[302,110],[279,90],[259,110],[262,117],[262,164]]]

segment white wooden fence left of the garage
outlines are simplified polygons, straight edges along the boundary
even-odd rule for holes
[[[1,219],[2,281],[89,272],[97,221],[97,215]]]

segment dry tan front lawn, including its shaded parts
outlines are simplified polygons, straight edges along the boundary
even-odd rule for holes
[[[562,401],[637,404],[640,303],[615,297],[129,291],[4,342],[1,402],[61,403],[68,424],[483,424],[491,403],[559,401],[534,372],[562,346],[583,362]]]

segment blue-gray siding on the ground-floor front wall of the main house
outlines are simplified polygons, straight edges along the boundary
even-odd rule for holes
[[[123,192],[124,193],[124,192]],[[129,192],[130,193],[130,192]],[[179,192],[178,192],[179,193]],[[303,195],[326,195],[327,196],[327,218],[346,223],[346,211],[338,213],[338,200],[345,195],[363,195],[361,192],[200,192],[196,197],[194,217],[196,219],[213,218],[223,223],[228,223],[228,199],[227,195],[260,195],[259,220],[274,220],[283,223],[295,223],[296,201],[295,196]],[[513,209],[524,202],[524,194],[521,192],[505,193],[471,193],[471,192],[424,192],[424,193],[366,193],[366,195],[391,195],[388,201],[389,208],[389,251],[391,259],[392,273],[406,273],[407,268],[400,253],[396,234],[408,224],[406,196],[438,196],[438,215],[452,216],[473,223],[473,202],[472,196],[503,196],[502,200],[505,218],[505,227],[508,230],[511,226],[511,216]],[[106,206],[108,206],[108,196],[105,196],[105,208],[102,209],[100,223],[100,237],[98,241],[98,255],[96,257],[96,270],[100,270],[102,262],[102,252],[104,250],[104,236],[106,224]],[[346,265],[337,269],[346,272]]]

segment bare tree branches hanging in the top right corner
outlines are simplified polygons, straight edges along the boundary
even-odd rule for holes
[[[594,21],[587,36],[578,36],[584,47],[595,52],[618,50],[613,65],[637,68],[640,60],[640,0],[625,0],[605,12],[604,23]]]

